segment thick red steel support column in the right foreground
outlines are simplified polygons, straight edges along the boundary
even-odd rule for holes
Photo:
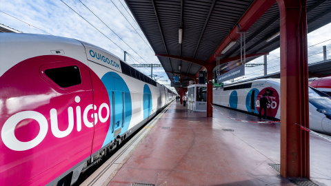
[[[277,0],[281,27],[281,175],[310,178],[307,0]]]

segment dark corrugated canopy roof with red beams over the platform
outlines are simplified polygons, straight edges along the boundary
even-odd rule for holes
[[[223,63],[221,69],[230,70],[225,63],[237,63],[241,55],[238,32],[245,32],[245,54],[251,56],[246,63],[280,45],[275,0],[125,1],[172,82],[177,74],[185,76],[183,81],[194,78],[202,63],[216,63],[215,56]],[[331,1],[307,0],[308,32],[330,23],[330,10]]]

